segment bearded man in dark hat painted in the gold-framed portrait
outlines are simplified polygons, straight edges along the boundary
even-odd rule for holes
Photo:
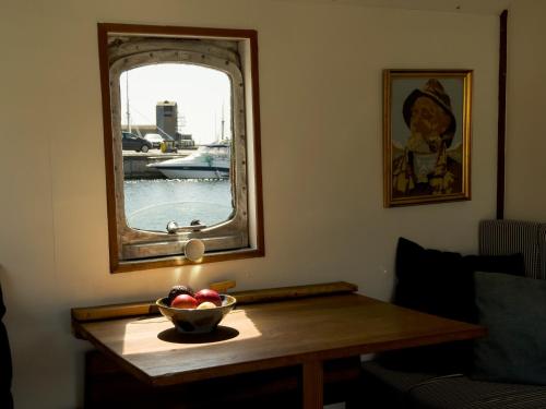
[[[462,166],[447,153],[456,122],[441,83],[430,79],[413,91],[402,111],[411,135],[403,155],[393,160],[393,196],[461,192]]]

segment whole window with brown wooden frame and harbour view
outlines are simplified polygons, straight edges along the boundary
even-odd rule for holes
[[[110,270],[263,255],[256,32],[99,24]]]

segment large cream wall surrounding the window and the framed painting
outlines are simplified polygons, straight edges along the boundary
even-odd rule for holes
[[[265,251],[108,273],[97,22],[259,32]],[[332,280],[387,299],[396,239],[465,253],[495,215],[498,19],[274,0],[3,0],[0,279],[17,408],[82,402],[70,308],[174,284]],[[473,200],[382,207],[381,70],[474,70]],[[544,81],[544,80],[543,80]]]

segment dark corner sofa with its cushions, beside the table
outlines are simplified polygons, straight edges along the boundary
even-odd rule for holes
[[[488,335],[364,362],[366,408],[546,408],[546,224],[483,220],[478,238],[466,256],[399,240],[393,302]]]

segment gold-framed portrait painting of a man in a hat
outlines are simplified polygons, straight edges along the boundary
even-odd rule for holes
[[[471,70],[383,71],[384,206],[471,199]]]

